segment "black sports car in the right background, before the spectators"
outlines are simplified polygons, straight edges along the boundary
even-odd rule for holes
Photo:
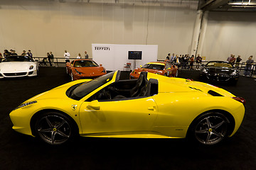
[[[200,71],[201,79],[218,82],[237,82],[240,72],[231,62],[211,61],[203,65]]]

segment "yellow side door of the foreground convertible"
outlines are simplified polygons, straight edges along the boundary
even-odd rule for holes
[[[152,130],[156,115],[157,106],[151,96],[119,101],[85,101],[80,107],[83,134],[147,134]]]

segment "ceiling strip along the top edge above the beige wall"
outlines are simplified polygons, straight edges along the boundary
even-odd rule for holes
[[[1,4],[10,0],[0,0]],[[111,4],[119,6],[164,6],[171,8],[201,9],[203,11],[256,11],[256,0],[16,0],[48,1],[57,3]]]

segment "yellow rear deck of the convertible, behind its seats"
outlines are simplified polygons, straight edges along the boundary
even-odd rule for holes
[[[148,79],[158,79],[161,81],[159,84],[159,93],[188,93],[188,92],[198,92],[208,94],[208,91],[215,91],[222,96],[234,97],[230,92],[220,89],[217,86],[202,83],[199,81],[191,81],[188,79],[181,78],[170,78],[162,77],[157,74],[148,74]]]

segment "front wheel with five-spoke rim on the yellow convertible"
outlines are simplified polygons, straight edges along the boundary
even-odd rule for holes
[[[50,145],[69,142],[78,133],[68,116],[57,112],[43,113],[34,124],[36,137]]]

